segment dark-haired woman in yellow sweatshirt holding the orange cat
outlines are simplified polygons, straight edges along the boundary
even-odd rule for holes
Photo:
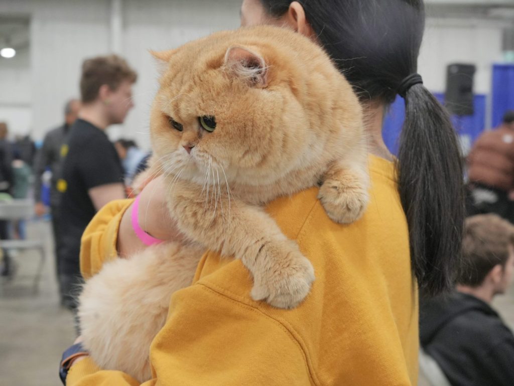
[[[295,309],[257,305],[248,272],[209,252],[193,285],[175,293],[150,357],[147,385],[414,385],[417,287],[446,289],[463,218],[461,163],[442,107],[421,84],[416,61],[423,2],[245,0],[242,24],[279,24],[318,41],[351,82],[368,116],[370,205],[356,223],[331,222],[316,189],[268,207],[314,265],[316,281]],[[406,100],[398,159],[381,139],[384,109]],[[162,213],[159,178],[140,195],[142,228],[180,237]],[[131,227],[132,201],[109,204],[83,236],[84,277],[106,260],[144,248]],[[409,256],[411,258],[409,259]],[[250,283],[250,284],[249,284]],[[128,353],[127,353],[128,354]],[[69,385],[138,384],[77,359]]]

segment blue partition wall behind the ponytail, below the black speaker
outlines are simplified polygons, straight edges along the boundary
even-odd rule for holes
[[[444,102],[444,94],[434,93],[434,96],[439,102]],[[467,152],[469,146],[471,146],[485,128],[485,108],[485,95],[475,95],[474,115],[467,117],[451,117],[452,123],[461,138],[464,153]],[[398,138],[403,119],[405,119],[405,102],[403,98],[398,96],[384,118],[382,131],[384,142],[389,151],[393,154],[398,154]]]

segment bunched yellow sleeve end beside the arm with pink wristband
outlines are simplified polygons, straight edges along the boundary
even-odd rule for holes
[[[105,261],[115,259],[121,217],[133,199],[115,200],[93,217],[82,235],[80,271],[84,279],[98,273]]]

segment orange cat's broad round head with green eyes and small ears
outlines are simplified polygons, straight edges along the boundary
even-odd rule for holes
[[[308,67],[267,35],[294,33],[270,28],[218,33],[160,54],[169,65],[152,108],[151,135],[165,173],[200,185],[225,178],[266,185],[323,151],[329,130],[313,128],[323,113],[302,95]]]

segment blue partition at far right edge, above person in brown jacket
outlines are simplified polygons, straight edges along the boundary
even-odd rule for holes
[[[497,127],[503,115],[514,109],[514,64],[492,66],[492,126]]]

